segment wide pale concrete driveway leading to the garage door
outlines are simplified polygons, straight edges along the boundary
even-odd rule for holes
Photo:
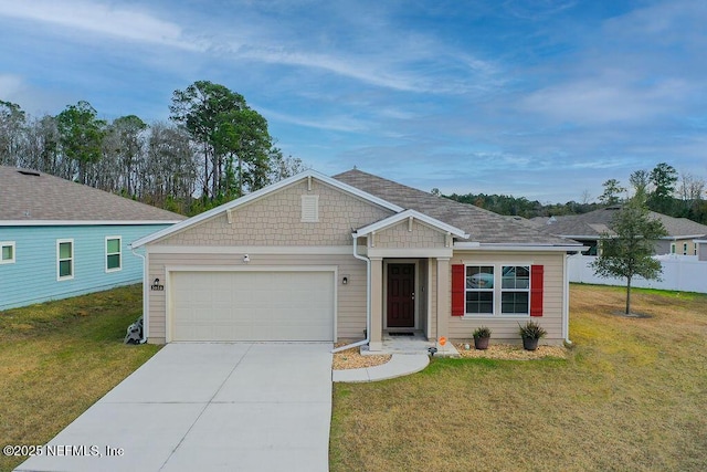
[[[169,344],[17,470],[327,471],[330,350]]]

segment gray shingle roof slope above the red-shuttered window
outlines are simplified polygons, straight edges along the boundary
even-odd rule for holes
[[[517,221],[473,204],[436,197],[402,183],[358,169],[334,176],[335,179],[399,207],[416,210],[471,234],[471,241],[499,244],[569,245],[573,241],[544,233],[528,221]]]

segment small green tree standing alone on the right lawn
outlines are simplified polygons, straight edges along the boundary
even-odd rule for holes
[[[631,281],[640,275],[661,280],[663,266],[653,259],[656,241],[667,235],[659,220],[651,217],[645,195],[636,193],[614,214],[610,229],[600,240],[600,255],[592,263],[600,277],[626,280],[626,315],[631,314]]]

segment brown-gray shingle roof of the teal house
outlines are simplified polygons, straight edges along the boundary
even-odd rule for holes
[[[49,174],[0,166],[0,225],[147,224],[183,219]]]

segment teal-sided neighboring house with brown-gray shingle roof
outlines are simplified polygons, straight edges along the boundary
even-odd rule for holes
[[[137,283],[130,243],[184,217],[0,166],[0,311]]]

